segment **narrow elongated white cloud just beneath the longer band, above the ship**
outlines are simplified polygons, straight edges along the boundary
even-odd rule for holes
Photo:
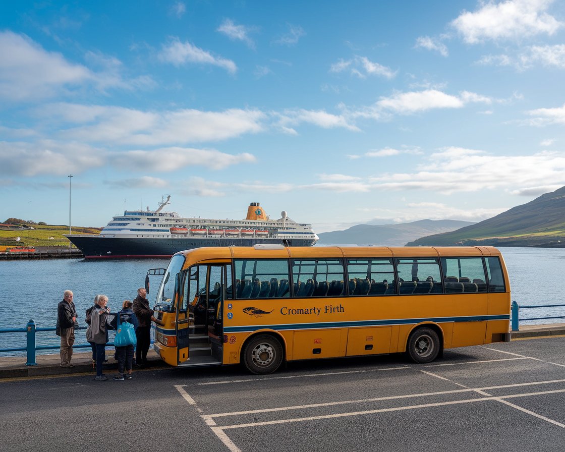
[[[238,163],[253,163],[255,157],[248,153],[225,154],[215,149],[193,149],[190,147],[165,147],[151,151],[132,150],[114,153],[111,162],[118,168],[146,171],[176,171],[187,166],[203,166],[223,169]]]

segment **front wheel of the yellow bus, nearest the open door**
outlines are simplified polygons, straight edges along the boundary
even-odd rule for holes
[[[270,334],[259,334],[245,345],[244,363],[247,370],[257,375],[275,372],[282,363],[282,346]]]

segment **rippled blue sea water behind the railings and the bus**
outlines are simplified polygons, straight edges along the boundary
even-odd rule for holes
[[[501,248],[510,275],[512,300],[521,306],[565,305],[563,279],[565,249]],[[168,259],[123,260],[3,260],[0,261],[0,329],[24,328],[33,319],[37,327],[54,327],[57,304],[70,289],[79,315],[86,326],[85,311],[94,295],[105,294],[112,311],[121,308],[124,299],[133,300],[144,286],[150,268],[166,268]],[[147,298],[150,303],[159,279],[151,280]],[[547,307],[520,311],[520,319],[563,316],[565,308]],[[565,319],[523,321],[528,323],[565,323]],[[85,344],[85,331],[77,332],[77,344]],[[38,332],[37,345],[58,345],[54,332]],[[25,345],[25,333],[0,333],[0,349]],[[56,350],[45,353],[56,353]],[[5,355],[5,354],[3,354]]]

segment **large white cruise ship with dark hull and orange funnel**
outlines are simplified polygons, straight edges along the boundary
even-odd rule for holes
[[[171,196],[157,210],[126,210],[112,218],[98,234],[66,234],[86,259],[168,258],[177,251],[201,246],[253,246],[277,244],[312,246],[318,236],[312,225],[297,223],[281,212],[271,220],[258,202],[251,202],[244,220],[182,218],[163,211]]]

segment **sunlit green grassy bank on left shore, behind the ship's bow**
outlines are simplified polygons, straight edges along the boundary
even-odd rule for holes
[[[69,227],[65,225],[33,225],[34,229],[18,229],[6,231],[0,229],[0,243],[2,245],[21,245],[25,246],[68,246],[69,240],[63,234],[69,233]],[[72,227],[73,234],[99,234],[99,228]],[[20,241],[16,242],[16,237]],[[53,238],[50,238],[53,237]]]

